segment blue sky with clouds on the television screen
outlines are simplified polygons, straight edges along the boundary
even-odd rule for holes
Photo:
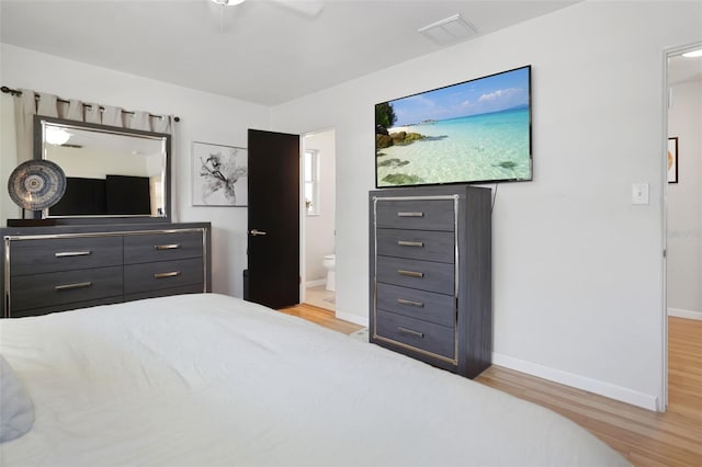
[[[395,126],[479,115],[529,104],[529,67],[390,101]]]

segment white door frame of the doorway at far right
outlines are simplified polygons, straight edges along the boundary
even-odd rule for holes
[[[702,48],[702,42],[665,48],[663,50],[663,138],[660,143],[660,180],[663,186],[661,195],[661,219],[663,219],[663,309],[661,309],[661,345],[663,355],[663,387],[660,394],[663,400],[658,401],[658,411],[665,412],[668,408],[668,159],[664,157],[668,151],[668,113],[670,110],[670,90],[668,89],[668,61],[671,57],[677,57],[686,52]]]

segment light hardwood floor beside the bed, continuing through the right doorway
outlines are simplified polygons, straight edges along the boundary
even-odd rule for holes
[[[308,305],[281,310],[343,333],[360,326]],[[653,412],[492,365],[476,381],[585,426],[635,466],[702,466],[702,321],[668,319],[668,410]]]

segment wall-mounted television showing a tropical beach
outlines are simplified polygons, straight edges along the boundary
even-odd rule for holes
[[[375,105],[375,186],[532,180],[531,66]]]

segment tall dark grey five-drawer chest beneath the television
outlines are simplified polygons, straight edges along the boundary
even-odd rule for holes
[[[370,193],[371,342],[469,378],[490,366],[490,193]]]

